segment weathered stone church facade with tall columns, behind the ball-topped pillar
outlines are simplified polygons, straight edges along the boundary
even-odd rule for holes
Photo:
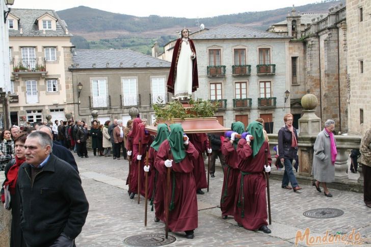
[[[308,16],[312,16],[311,23],[299,25],[297,32],[294,32],[293,21],[303,23],[301,18],[307,20]],[[347,132],[349,83],[346,7],[340,4],[330,8],[328,13],[310,15],[298,14],[293,9],[286,19],[287,35],[292,37],[289,42],[290,103],[294,118],[299,117],[295,115],[302,110],[301,97],[305,93],[312,93],[319,101],[315,113],[322,119],[322,126],[327,119],[334,119],[336,131]],[[284,30],[276,31],[276,25],[271,26],[269,31],[285,35]]]

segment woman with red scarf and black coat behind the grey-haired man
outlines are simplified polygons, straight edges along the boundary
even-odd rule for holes
[[[20,133],[14,144],[15,158],[10,160],[5,166],[5,181],[2,188],[2,201],[6,203],[5,208],[12,210],[12,226],[10,232],[10,247],[24,247],[26,246],[22,230],[20,228],[20,203],[19,203],[19,190],[17,186],[17,176],[19,167],[25,161],[25,148],[24,143],[27,138],[27,133]],[[4,185],[6,190],[4,190]],[[10,195],[10,203],[5,201],[5,197]]]

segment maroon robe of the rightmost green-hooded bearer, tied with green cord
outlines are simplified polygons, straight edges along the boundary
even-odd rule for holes
[[[257,230],[267,223],[266,177],[264,164],[266,163],[265,149],[268,149],[268,163],[271,165],[271,153],[268,142],[264,142],[259,152],[253,158],[253,150],[241,139],[237,145],[239,155],[240,175],[237,181],[236,198],[234,203],[234,220],[248,230]],[[242,172],[246,174],[243,176]],[[241,179],[243,178],[243,195]],[[242,200],[244,197],[244,200]],[[240,200],[239,200],[240,199]],[[239,203],[240,201],[240,203]],[[239,206],[240,204],[240,206]],[[244,216],[243,216],[244,215]],[[242,217],[243,216],[243,217]]]

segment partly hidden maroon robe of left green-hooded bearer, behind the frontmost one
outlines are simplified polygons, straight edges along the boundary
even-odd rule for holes
[[[154,204],[154,215],[161,219],[161,221],[165,222],[165,206],[164,206],[164,174],[161,174],[157,171],[156,167],[154,166],[154,161],[157,156],[157,151],[150,147],[148,151],[148,163],[150,166],[151,173],[154,173],[154,179],[152,181],[153,184],[153,192],[152,194],[148,194],[148,198],[152,197],[153,204]]]

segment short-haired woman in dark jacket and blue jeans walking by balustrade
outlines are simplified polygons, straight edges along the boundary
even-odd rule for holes
[[[285,171],[282,178],[282,188],[293,189],[294,192],[301,189],[293,172],[293,159],[298,151],[298,133],[293,126],[294,117],[288,113],[284,116],[285,127],[278,131],[278,158],[284,164]],[[290,187],[288,182],[291,183]]]

